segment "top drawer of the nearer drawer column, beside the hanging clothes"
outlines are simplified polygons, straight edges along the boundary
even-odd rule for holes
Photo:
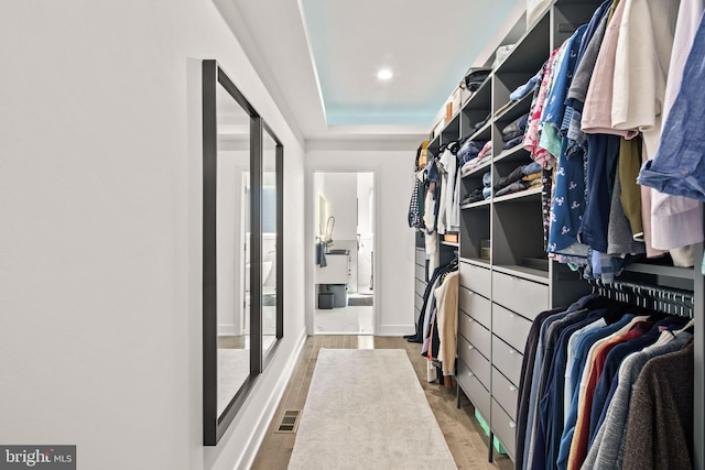
[[[541,311],[549,309],[549,286],[495,271],[492,302],[533,320]]]

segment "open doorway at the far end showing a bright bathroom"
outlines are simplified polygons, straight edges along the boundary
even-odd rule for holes
[[[375,174],[313,176],[314,334],[375,332]]]

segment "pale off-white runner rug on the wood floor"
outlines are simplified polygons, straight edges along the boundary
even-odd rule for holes
[[[290,469],[456,469],[401,349],[322,349]]]

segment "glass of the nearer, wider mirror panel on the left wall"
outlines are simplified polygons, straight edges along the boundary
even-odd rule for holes
[[[217,416],[250,374],[250,117],[218,84],[216,265]]]

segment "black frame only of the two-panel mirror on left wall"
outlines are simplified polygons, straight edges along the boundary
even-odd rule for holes
[[[283,328],[283,155],[281,141],[245,98],[216,61],[203,61],[203,433],[204,446],[218,444],[254,386],[258,376],[271,361],[284,336]],[[250,374],[218,416],[217,351],[217,252],[216,252],[216,181],[218,129],[216,90],[218,84],[250,117]],[[262,150],[263,132],[275,141],[276,172],[276,341],[262,356]]]

